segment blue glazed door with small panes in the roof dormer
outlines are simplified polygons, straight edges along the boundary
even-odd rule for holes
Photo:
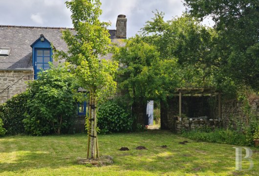
[[[51,62],[51,50],[50,49],[35,49],[35,79],[39,71],[49,69],[48,62]]]

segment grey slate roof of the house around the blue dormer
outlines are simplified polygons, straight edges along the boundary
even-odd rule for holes
[[[67,51],[67,45],[61,39],[62,27],[34,27],[34,26],[9,26],[0,25],[0,47],[10,47],[9,56],[0,56],[0,70],[32,70],[32,48],[40,35],[58,50]],[[68,28],[74,31],[72,28]],[[116,38],[116,30],[109,30],[111,42],[119,46],[124,45],[123,39]],[[111,59],[111,54],[104,57]]]

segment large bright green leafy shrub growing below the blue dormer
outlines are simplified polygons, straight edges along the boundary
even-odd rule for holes
[[[65,65],[40,72],[27,90],[33,98],[27,101],[26,117],[22,120],[25,132],[42,135],[67,130],[76,114],[73,100],[76,88],[74,76]]]

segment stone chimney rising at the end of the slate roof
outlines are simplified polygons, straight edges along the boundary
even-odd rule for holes
[[[126,15],[118,15],[116,22],[116,37],[127,38],[127,18]]]

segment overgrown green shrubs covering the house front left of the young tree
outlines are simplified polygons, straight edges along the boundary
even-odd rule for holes
[[[8,134],[61,134],[76,114],[74,76],[65,65],[40,72],[30,88],[0,105],[0,118]]]

